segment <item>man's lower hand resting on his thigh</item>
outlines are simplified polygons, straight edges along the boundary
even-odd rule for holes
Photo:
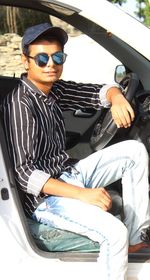
[[[108,211],[112,207],[112,199],[105,188],[84,188],[81,189],[80,200],[98,206],[104,211]]]

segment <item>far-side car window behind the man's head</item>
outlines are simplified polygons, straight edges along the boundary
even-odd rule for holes
[[[114,80],[116,65],[120,62],[71,25],[46,13],[1,6],[0,11],[0,75],[20,77],[24,72],[21,62],[21,39],[24,30],[31,25],[50,21],[61,26],[69,34],[65,46],[68,54],[62,78],[78,82],[109,83]]]

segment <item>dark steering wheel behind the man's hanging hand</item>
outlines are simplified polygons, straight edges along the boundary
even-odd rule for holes
[[[136,73],[127,74],[120,82],[120,86],[125,91],[126,99],[131,103],[136,89],[139,84],[139,79]],[[99,120],[94,127],[93,134],[90,139],[90,145],[98,151],[104,148],[110,140],[115,136],[119,128],[117,128],[109,109],[105,114],[104,119]]]

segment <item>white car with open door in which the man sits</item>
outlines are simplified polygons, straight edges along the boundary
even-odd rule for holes
[[[39,19],[39,12],[43,12],[43,20],[50,15],[52,22],[59,19],[56,22],[61,26],[63,22],[65,28],[68,28],[66,23],[75,28],[69,31],[70,39],[66,45],[69,55],[63,78],[99,83],[120,82],[136,112],[135,121],[129,129],[116,129],[106,109],[100,112],[76,111],[74,114],[65,112],[68,152],[81,158],[111,143],[137,139],[150,153],[148,27],[106,0],[0,0],[0,8],[0,100],[18,82],[21,69],[19,45],[13,45],[16,53],[8,59],[14,34],[9,37],[8,30],[7,34],[3,34],[6,26],[4,14],[6,12],[9,26],[11,20],[14,22],[14,15],[21,15],[16,20],[16,32],[20,30],[17,38],[21,38],[22,26],[28,26],[25,19],[28,18],[31,25],[32,11]],[[16,65],[12,66],[12,63]],[[121,197],[120,182],[115,188],[118,198]],[[98,245],[87,238],[42,227],[25,217],[0,124],[1,279],[103,280],[100,263],[97,263],[99,250]],[[145,280],[149,277],[150,250],[130,254],[128,279]]]

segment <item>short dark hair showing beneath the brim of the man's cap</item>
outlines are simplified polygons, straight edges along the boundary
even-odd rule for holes
[[[59,38],[57,36],[52,36],[49,34],[42,34],[36,40],[34,40],[31,44],[24,47],[23,54],[25,56],[28,56],[30,54],[30,46],[35,42],[40,42],[43,40],[48,41],[48,42],[57,41],[61,45],[62,51],[64,50],[64,45],[62,45],[62,42],[59,40]]]

